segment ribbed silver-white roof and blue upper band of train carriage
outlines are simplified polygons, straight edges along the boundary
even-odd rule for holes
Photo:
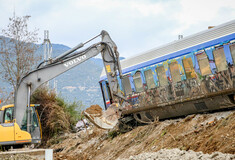
[[[235,20],[153,48],[121,61],[123,74],[235,38]],[[103,68],[100,80],[106,78]]]

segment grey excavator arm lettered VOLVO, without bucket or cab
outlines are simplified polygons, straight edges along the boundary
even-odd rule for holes
[[[77,49],[84,46],[84,44],[90,42],[94,38],[101,36],[102,41],[96,44],[91,45],[90,47],[76,51]],[[20,127],[23,124],[23,117],[27,114],[27,131],[30,133],[30,95],[42,84],[45,82],[57,77],[58,75],[72,69],[73,67],[87,61],[88,59],[101,53],[104,66],[106,68],[106,73],[108,81],[110,84],[110,92],[112,99],[115,99],[115,96],[118,95],[118,80],[117,75],[122,75],[119,54],[117,52],[117,46],[110,38],[109,34],[106,31],[102,31],[91,40],[81,43],[76,47],[70,49],[69,51],[63,53],[62,55],[49,60],[48,62],[41,63],[38,68],[25,77],[23,77],[18,84],[17,90],[15,91],[15,112],[14,116],[16,122]],[[46,64],[45,64],[46,63]],[[27,112],[26,112],[27,111]],[[38,131],[37,131],[38,132]],[[38,133],[35,133],[37,135]],[[32,133],[31,133],[32,135]],[[34,134],[33,134],[34,135]]]

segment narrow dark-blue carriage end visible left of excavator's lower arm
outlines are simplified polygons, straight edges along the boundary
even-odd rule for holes
[[[101,85],[101,90],[102,90],[102,95],[103,95],[103,100],[104,100],[104,106],[105,106],[105,109],[107,109],[112,102],[109,84],[107,81],[102,81],[100,85]]]

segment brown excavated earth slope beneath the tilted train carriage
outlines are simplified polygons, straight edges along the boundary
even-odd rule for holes
[[[57,137],[54,159],[235,159],[235,111],[154,122],[127,133],[96,127]]]

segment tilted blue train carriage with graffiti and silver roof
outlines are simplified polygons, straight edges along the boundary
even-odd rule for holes
[[[120,92],[139,122],[235,106],[235,20],[121,61]],[[103,71],[105,108],[112,103]]]

